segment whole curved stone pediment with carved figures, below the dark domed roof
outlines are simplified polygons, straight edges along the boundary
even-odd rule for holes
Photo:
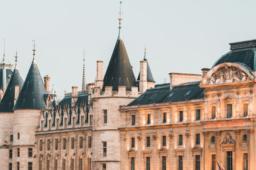
[[[202,79],[200,87],[250,81],[253,78],[251,69],[244,64],[226,62],[213,67]]]

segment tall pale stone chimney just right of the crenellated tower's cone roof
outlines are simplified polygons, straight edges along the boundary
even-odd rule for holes
[[[140,92],[143,93],[147,90],[147,61],[140,61]]]

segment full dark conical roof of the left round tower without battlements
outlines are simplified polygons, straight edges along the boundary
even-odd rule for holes
[[[14,110],[46,108],[44,94],[47,94],[44,82],[33,59]]]

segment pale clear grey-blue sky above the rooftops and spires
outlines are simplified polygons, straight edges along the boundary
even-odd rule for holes
[[[86,83],[104,72],[118,36],[118,0],[1,0],[0,54],[25,80],[36,41],[36,62],[42,76],[51,76],[57,94],[72,86],[81,90],[83,49]],[[201,73],[229,51],[228,43],[256,38],[256,1],[238,0],[123,0],[122,37],[137,78],[144,45],[157,83],[168,73]]]

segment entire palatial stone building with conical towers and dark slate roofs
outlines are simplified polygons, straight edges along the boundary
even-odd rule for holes
[[[58,103],[33,61],[25,81],[15,60],[0,103],[3,169],[253,169],[256,40],[230,43],[202,74],[156,84],[146,52],[136,80],[119,34],[104,74]],[[84,69],[83,69],[84,70]],[[0,80],[5,79],[0,75]],[[7,81],[6,81],[7,82]]]

